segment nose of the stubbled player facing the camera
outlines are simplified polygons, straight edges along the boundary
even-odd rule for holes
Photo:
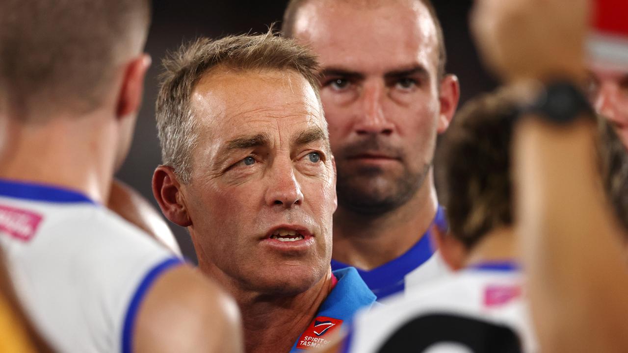
[[[384,114],[384,82],[365,82],[360,95],[354,129],[357,134],[392,134],[394,126]]]

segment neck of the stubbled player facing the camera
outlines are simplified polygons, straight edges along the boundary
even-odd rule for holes
[[[437,208],[431,171],[406,204],[386,214],[357,214],[338,207],[333,215],[332,258],[366,270],[392,261],[421,239]]]

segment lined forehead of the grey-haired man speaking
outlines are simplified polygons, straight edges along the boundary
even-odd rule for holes
[[[215,144],[252,133],[280,139],[309,128],[320,128],[327,136],[314,89],[290,70],[210,72],[196,85],[190,103],[198,136]]]

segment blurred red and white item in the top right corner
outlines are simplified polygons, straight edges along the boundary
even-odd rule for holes
[[[628,0],[593,0],[588,52],[593,65],[628,69]]]

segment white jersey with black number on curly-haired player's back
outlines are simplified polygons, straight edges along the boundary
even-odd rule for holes
[[[487,263],[360,313],[344,352],[537,352],[522,274]]]

